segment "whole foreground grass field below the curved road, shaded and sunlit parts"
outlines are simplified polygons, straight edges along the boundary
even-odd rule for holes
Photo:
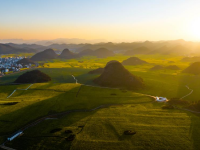
[[[161,106],[159,103],[126,104],[95,112],[72,113],[59,120],[46,120],[28,129],[24,137],[16,139],[9,146],[30,150],[198,150],[199,117],[180,110],[162,110]],[[83,130],[78,126],[84,126]],[[50,133],[58,127],[62,130]],[[72,143],[64,138],[40,137],[68,137],[65,130],[72,130],[76,134]],[[136,131],[136,134],[124,135],[125,130]]]

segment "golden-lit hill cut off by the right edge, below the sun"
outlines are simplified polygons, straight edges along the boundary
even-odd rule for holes
[[[189,67],[182,71],[183,73],[190,73],[194,75],[200,74],[200,62],[194,62]]]

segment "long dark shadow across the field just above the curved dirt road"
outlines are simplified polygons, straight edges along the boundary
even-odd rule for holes
[[[37,120],[43,116],[84,107],[79,105],[79,102],[77,102],[75,99],[76,93],[74,93],[74,91],[78,91],[78,89],[79,87],[73,88],[68,92],[63,92],[55,97],[35,102],[34,104],[25,107],[20,105],[23,102],[16,104],[15,106],[19,105],[19,107],[22,108],[9,114],[0,116],[0,120],[7,120],[12,122],[0,122],[0,135],[11,134],[24,125],[33,122],[34,120]],[[12,106],[7,107],[12,108]]]

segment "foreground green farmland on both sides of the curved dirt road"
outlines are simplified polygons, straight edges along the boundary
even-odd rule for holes
[[[1,110],[1,133],[9,133],[36,118],[72,109],[91,109],[102,104],[122,104],[93,112],[75,112],[60,119],[46,120],[8,143],[17,149],[198,149],[199,117],[181,110],[163,110],[162,103],[139,93],[77,84],[35,84],[13,95],[20,103]],[[56,89],[57,92],[52,92]],[[91,92],[92,91],[92,92]],[[104,94],[102,94],[104,93]],[[116,95],[112,95],[115,93]],[[29,97],[29,99],[28,99]],[[46,99],[45,99],[46,97]],[[38,100],[40,98],[40,100]],[[42,99],[44,98],[44,99]],[[12,111],[11,111],[12,108]],[[24,115],[26,113],[26,115]],[[8,119],[9,118],[9,119]],[[15,124],[10,124],[15,122]],[[7,128],[9,124],[9,128]],[[84,126],[82,131],[78,126]],[[50,133],[54,128],[62,130]],[[73,142],[65,130],[76,134]],[[124,135],[134,130],[135,135]],[[80,132],[81,131],[81,132]],[[3,137],[2,137],[3,141]],[[49,147],[49,144],[52,144]]]

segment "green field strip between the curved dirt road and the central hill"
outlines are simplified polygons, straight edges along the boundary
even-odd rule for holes
[[[12,85],[10,85],[10,89],[11,87]],[[138,98],[142,94],[128,91],[124,93],[120,90],[89,86],[83,86],[79,92],[80,95],[77,95],[80,87],[80,84],[34,84],[28,90],[17,90],[10,98],[1,99],[1,135],[14,132],[30,121],[49,114],[71,109],[92,109],[102,104],[129,103],[132,101],[142,102],[140,98]],[[14,88],[16,88],[16,86],[14,86],[13,89]],[[92,93],[91,90],[93,91]],[[104,94],[102,95],[101,92],[104,92]],[[118,98],[115,95],[110,95],[112,92],[116,92],[115,94],[120,97]],[[12,91],[10,93],[12,93]],[[151,100],[148,97],[143,99],[144,101]],[[15,105],[4,105],[9,102],[18,103]],[[24,113],[26,113],[26,115],[24,115]],[[13,124],[11,124],[12,122]]]

